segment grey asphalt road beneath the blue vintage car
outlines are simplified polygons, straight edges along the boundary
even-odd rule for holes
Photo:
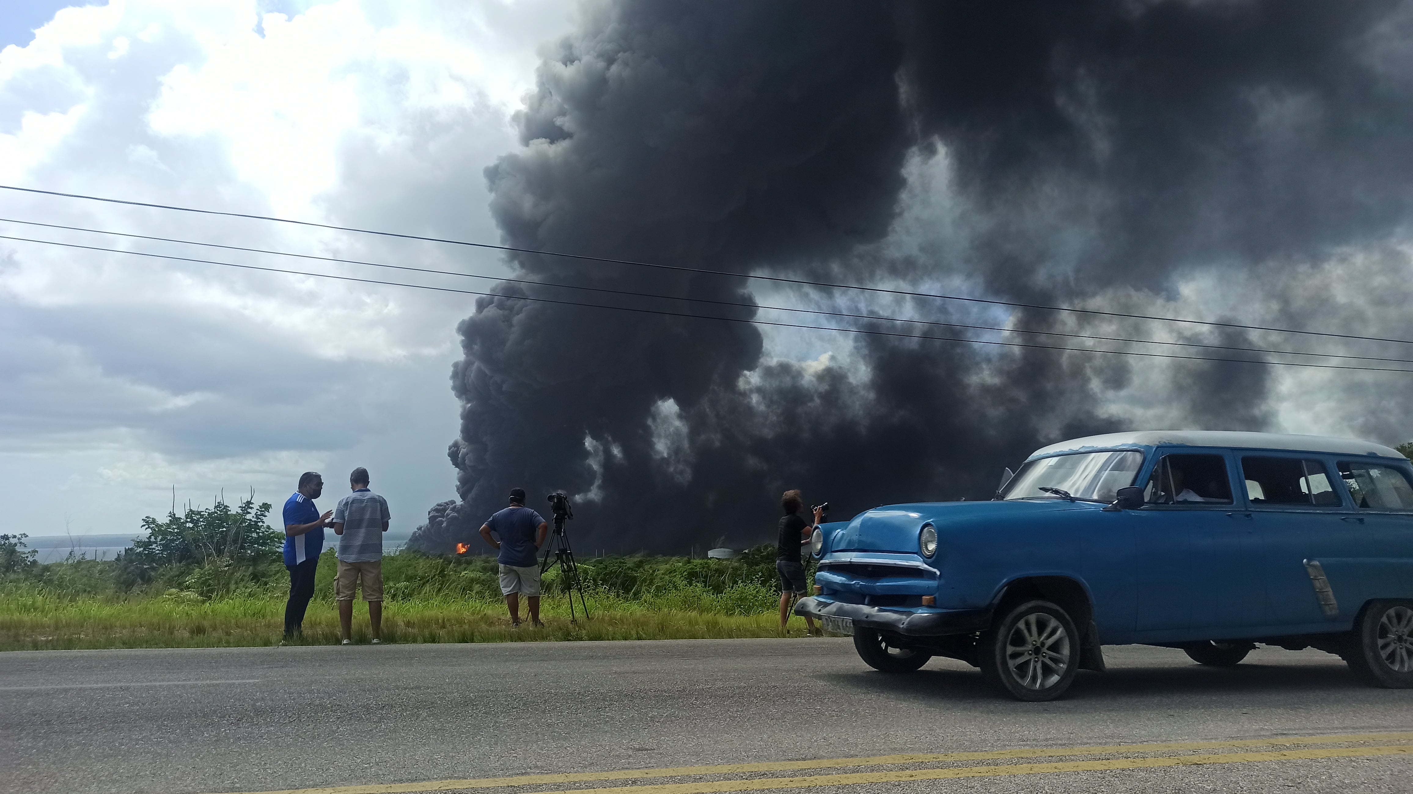
[[[839,639],[6,653],[0,791],[709,794],[780,776],[827,776],[790,783],[811,794],[1413,790],[1413,735],[1260,742],[1413,732],[1413,691],[1364,688],[1318,651],[1260,648],[1234,670],[1105,654],[1111,670],[1081,672],[1067,698],[1020,704],[948,660],[875,672]],[[1056,750],[1154,742],[1215,745]],[[896,753],[982,756],[821,762]],[[1239,763],[1193,766],[1211,753]],[[791,760],[811,763],[774,763]],[[562,776],[739,763],[763,766]],[[561,777],[427,783],[531,773]]]

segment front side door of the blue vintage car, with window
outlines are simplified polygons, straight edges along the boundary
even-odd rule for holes
[[[1235,624],[1249,596],[1251,519],[1234,497],[1226,451],[1160,448],[1136,521],[1135,630],[1145,639],[1190,639]],[[1219,636],[1219,633],[1214,634]]]

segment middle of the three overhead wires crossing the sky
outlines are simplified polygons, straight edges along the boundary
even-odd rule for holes
[[[185,246],[203,246],[203,247],[223,249],[223,250],[232,250],[232,251],[246,251],[246,253],[259,253],[259,254],[271,254],[271,256],[287,256],[287,257],[309,259],[309,260],[318,260],[318,261],[335,261],[335,263],[339,263],[339,264],[362,264],[362,266],[367,266],[367,267],[383,267],[383,268],[389,268],[389,270],[406,270],[406,271],[411,271],[411,273],[431,273],[431,274],[438,274],[438,275],[458,275],[458,277],[462,277],[462,278],[485,278],[485,280],[490,280],[490,281],[504,281],[504,283],[510,283],[510,284],[526,284],[526,285],[533,285],[533,287],[557,287],[557,288],[561,288],[561,290],[584,290],[584,291],[589,291],[589,292],[606,292],[606,294],[612,294],[612,295],[632,295],[632,297],[639,297],[639,298],[657,298],[657,300],[664,300],[664,301],[691,301],[691,302],[698,302],[698,304],[712,304],[712,305],[722,305],[722,307],[738,307],[738,308],[749,308],[749,309],[767,309],[767,311],[783,311],[783,312],[798,312],[798,314],[815,314],[815,315],[839,316],[839,318],[848,318],[848,319],[875,319],[875,321],[885,321],[885,322],[911,322],[911,324],[918,324],[918,325],[931,325],[931,326],[940,326],[940,328],[959,328],[959,329],[966,329],[966,331],[999,331],[999,332],[1005,332],[1005,333],[1031,333],[1031,335],[1043,335],[1043,336],[1064,336],[1064,338],[1068,338],[1068,339],[1089,339],[1089,340],[1096,340],[1096,342],[1126,342],[1126,343],[1135,343],[1135,345],[1169,345],[1169,346],[1176,346],[1176,348],[1200,348],[1200,349],[1208,349],[1208,350],[1229,350],[1229,352],[1239,352],[1239,353],[1272,353],[1272,355],[1280,355],[1280,356],[1311,356],[1311,357],[1321,357],[1321,359],[1345,359],[1345,360],[1361,360],[1361,362],[1390,362],[1390,363],[1413,365],[1413,360],[1410,360],[1410,359],[1396,359],[1396,357],[1382,357],[1382,356],[1355,356],[1355,355],[1351,355],[1351,353],[1308,353],[1308,352],[1303,352],[1303,350],[1275,350],[1275,349],[1269,349],[1269,348],[1238,348],[1238,346],[1234,346],[1234,345],[1207,345],[1207,343],[1200,343],[1200,342],[1166,342],[1166,340],[1159,340],[1159,339],[1133,339],[1133,338],[1126,338],[1126,336],[1099,336],[1099,335],[1094,335],[1094,333],[1067,333],[1067,332],[1061,332],[1061,331],[1029,331],[1029,329],[1024,329],[1024,328],[1005,328],[1005,326],[996,326],[996,325],[966,325],[966,324],[961,324],[961,322],[942,322],[942,321],[913,319],[913,318],[901,318],[901,316],[885,316],[885,315],[835,312],[835,311],[827,311],[827,309],[803,309],[803,308],[796,308],[796,307],[771,307],[771,305],[762,305],[762,304],[747,304],[747,302],[742,302],[742,301],[719,301],[719,300],[712,300],[712,298],[688,298],[688,297],[677,297],[677,295],[661,295],[661,294],[656,294],[656,292],[636,292],[636,291],[632,291],[632,290],[610,290],[610,288],[606,288],[606,287],[586,287],[586,285],[579,285],[579,284],[560,284],[560,283],[554,283],[554,281],[534,281],[534,280],[530,280],[530,278],[509,278],[509,277],[499,277],[499,275],[483,275],[483,274],[479,274],[479,273],[461,273],[461,271],[455,271],[455,270],[435,270],[435,268],[428,268],[428,267],[413,267],[413,266],[406,266],[406,264],[387,264],[387,263],[380,263],[380,261],[362,261],[362,260],[356,260],[356,259],[339,259],[339,257],[318,256],[318,254],[301,254],[301,253],[294,253],[294,251],[280,251],[280,250],[271,250],[271,249],[253,249],[253,247],[246,247],[246,246],[227,246],[227,244],[222,244],[222,243],[203,243],[203,242],[199,242],[199,240],[184,240],[184,239],[177,239],[177,237],[157,237],[157,236],[151,236],[151,235],[133,235],[133,233],[127,233],[127,232],[107,232],[107,230],[103,230],[103,229],[88,229],[88,227],[83,227],[83,226],[65,226],[62,223],[41,223],[38,220],[18,220],[18,219],[13,219],[13,218],[0,218],[0,222],[4,222],[4,223],[23,223],[23,225],[27,225],[27,226],[42,226],[45,229],[65,229],[65,230],[69,230],[69,232],[88,232],[88,233],[93,233],[93,235],[110,235],[110,236],[114,236],[114,237],[129,237],[129,239],[136,239],[136,240],[155,240],[155,242],[162,242],[162,243],[177,243],[177,244],[185,244]],[[16,239],[21,239],[21,240],[27,240],[27,242],[44,242],[44,240],[30,240],[28,237],[16,237]],[[112,249],[105,249],[105,250],[112,250]]]

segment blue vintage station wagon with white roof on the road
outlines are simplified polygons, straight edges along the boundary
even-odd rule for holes
[[[1146,431],[1046,446],[991,502],[824,524],[797,615],[887,672],[971,663],[1060,697],[1101,644],[1234,665],[1253,643],[1413,687],[1413,466],[1345,438]]]

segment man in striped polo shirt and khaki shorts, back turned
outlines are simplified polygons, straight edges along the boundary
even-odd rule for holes
[[[369,490],[367,482],[367,469],[353,469],[349,475],[353,493],[333,509],[333,534],[339,535],[335,552],[339,574],[333,581],[333,598],[339,602],[345,646],[353,641],[353,591],[360,581],[373,643],[383,641],[383,533],[387,531],[389,513],[387,500]]]

